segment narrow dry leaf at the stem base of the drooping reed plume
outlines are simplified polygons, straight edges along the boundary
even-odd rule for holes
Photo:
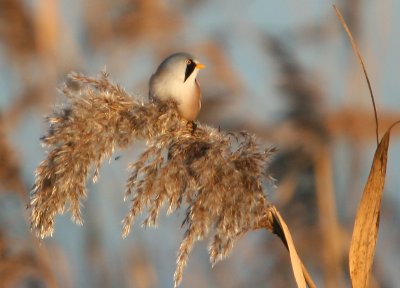
[[[286,246],[289,250],[290,261],[292,263],[293,274],[294,278],[296,279],[297,287],[305,288],[307,286],[305,275],[303,273],[303,264],[300,260],[299,255],[297,254],[289,228],[287,227],[285,221],[282,219],[282,216],[279,214],[278,210],[276,210],[275,207],[271,208],[271,212],[273,217],[277,220],[276,222],[277,224],[279,224],[284,234],[284,239],[282,239],[282,241],[286,240]]]

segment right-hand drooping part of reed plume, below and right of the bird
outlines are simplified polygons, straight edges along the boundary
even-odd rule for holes
[[[127,192],[130,195],[134,189],[136,193],[123,222],[124,236],[143,206],[149,210],[143,224],[153,226],[165,202],[168,213],[182,201],[188,205],[175,285],[196,240],[213,231],[209,252],[214,265],[227,255],[239,235],[253,229],[265,215],[268,202],[261,178],[269,151],[260,150],[250,135],[242,135],[244,139],[233,147],[229,135],[214,128],[200,126],[193,135],[190,129],[170,131],[151,140],[131,166]]]

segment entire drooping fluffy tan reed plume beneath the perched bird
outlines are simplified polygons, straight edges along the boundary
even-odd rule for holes
[[[168,213],[184,204],[186,227],[175,272],[182,279],[196,240],[210,232],[210,261],[214,265],[234,241],[259,228],[270,204],[262,180],[273,149],[260,147],[248,133],[226,133],[205,125],[188,125],[173,102],[142,103],[112,84],[107,74],[89,78],[72,74],[62,89],[68,104],[48,117],[50,129],[43,144],[48,155],[36,170],[31,197],[31,224],[40,237],[51,236],[54,218],[66,209],[82,223],[81,200],[90,167],[98,176],[102,160],[114,148],[136,139],[147,148],[130,165],[126,198],[132,200],[123,221],[126,236],[134,219],[148,210],[144,225],[156,225],[164,203]]]

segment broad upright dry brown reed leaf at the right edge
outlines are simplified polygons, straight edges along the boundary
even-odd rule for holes
[[[367,287],[375,253],[379,215],[386,176],[390,129],[375,151],[374,161],[364,188],[350,245],[349,267],[352,286]]]

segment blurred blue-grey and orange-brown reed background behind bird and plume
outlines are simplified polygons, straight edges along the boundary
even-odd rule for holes
[[[364,55],[380,128],[400,119],[400,3],[337,1]],[[84,226],[57,218],[42,242],[29,230],[29,191],[45,157],[43,115],[70,71],[111,79],[139,98],[175,51],[204,62],[199,121],[276,146],[269,198],[288,222],[319,287],[350,287],[347,254],[375,146],[368,89],[324,1],[0,0],[0,287],[171,287],[183,215],[121,239],[126,167],[140,145],[105,163]],[[398,129],[397,129],[398,130]],[[396,131],[394,131],[396,132]],[[396,287],[400,259],[399,141],[389,153],[371,287]],[[393,141],[394,140],[394,141]],[[140,222],[140,221],[139,221]],[[288,253],[251,232],[211,269],[197,245],[182,287],[293,287]]]

